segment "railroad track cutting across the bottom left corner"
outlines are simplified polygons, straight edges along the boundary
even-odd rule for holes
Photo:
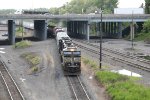
[[[25,100],[16,82],[2,61],[0,61],[0,76],[5,83],[10,100]]]

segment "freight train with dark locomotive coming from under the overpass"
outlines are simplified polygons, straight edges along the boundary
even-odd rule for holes
[[[81,74],[81,51],[62,28],[55,28],[54,35],[60,54],[64,75]]]

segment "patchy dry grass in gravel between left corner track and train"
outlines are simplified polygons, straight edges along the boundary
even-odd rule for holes
[[[30,64],[31,72],[37,72],[39,70],[37,65],[40,64],[40,62],[41,62],[40,56],[38,56],[35,53],[26,53],[26,54],[22,54],[21,57],[26,59],[27,62]]]

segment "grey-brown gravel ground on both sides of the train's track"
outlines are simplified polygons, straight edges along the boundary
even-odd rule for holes
[[[49,39],[32,43],[31,47],[24,49],[0,46],[0,59],[6,63],[26,100],[72,100],[56,41]],[[20,57],[27,52],[35,52],[42,58],[40,71],[35,74],[29,74],[29,64]],[[92,70],[84,64],[81,79],[92,100],[108,100],[105,89],[97,83]]]

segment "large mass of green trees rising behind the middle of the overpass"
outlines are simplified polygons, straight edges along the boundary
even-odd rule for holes
[[[50,12],[53,14],[81,14],[81,13],[94,13],[100,8],[104,13],[113,13],[113,9],[117,7],[118,0],[72,0],[64,4],[60,8],[51,8]]]

